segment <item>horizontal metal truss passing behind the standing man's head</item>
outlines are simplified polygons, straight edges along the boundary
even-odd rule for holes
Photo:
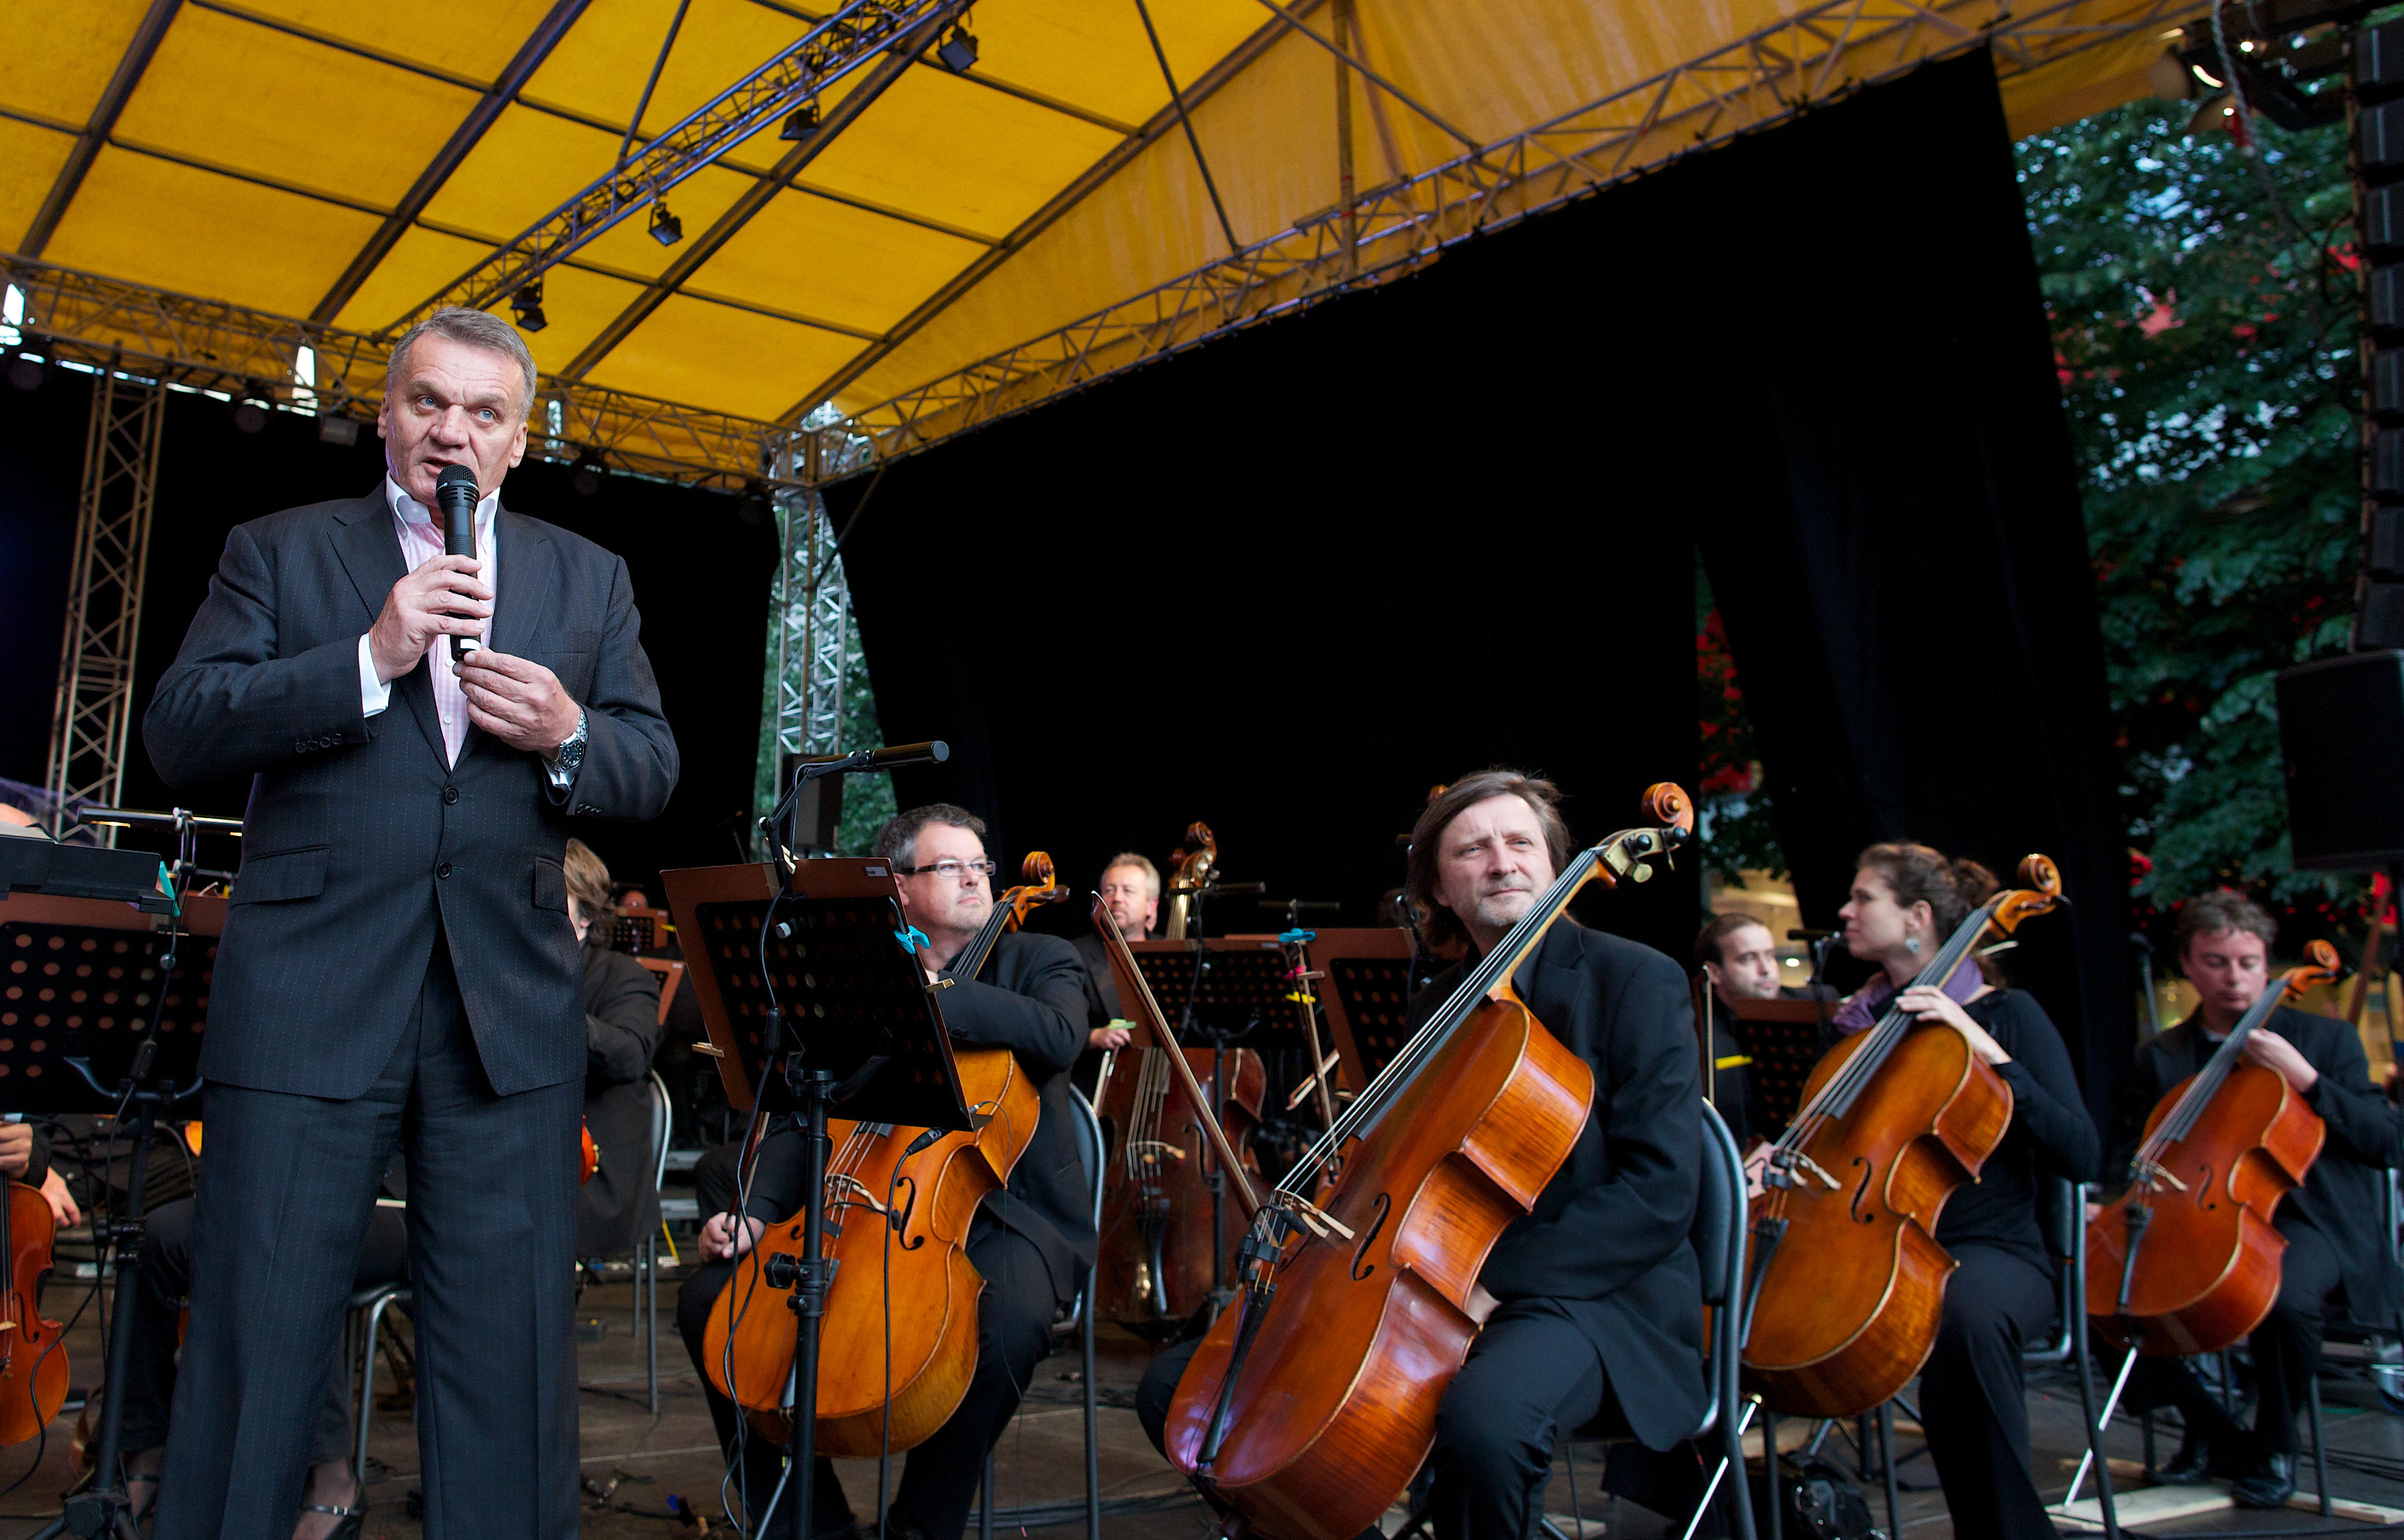
[[[257,401],[293,404],[300,389],[310,389],[320,413],[358,418],[373,416],[385,396],[392,344],[365,332],[7,255],[0,255],[0,281],[24,293],[24,346],[53,358]],[[313,387],[300,387],[293,377],[300,348],[310,348],[315,358]],[[546,377],[538,392],[531,454],[577,459],[589,449],[611,468],[666,480],[721,488],[762,480],[762,454],[786,432],[772,423],[594,384]],[[555,425],[548,420],[553,404]]]

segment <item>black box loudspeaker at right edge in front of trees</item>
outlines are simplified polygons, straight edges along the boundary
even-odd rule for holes
[[[2279,752],[2298,867],[2404,860],[2404,651],[2281,673]]]

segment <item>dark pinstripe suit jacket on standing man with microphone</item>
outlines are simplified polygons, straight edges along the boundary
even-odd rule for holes
[[[171,786],[250,776],[243,867],[209,990],[202,1074],[356,1098],[392,1060],[447,935],[502,1096],[584,1076],[584,971],[560,855],[570,817],[649,819],[676,738],[625,562],[495,514],[493,646],[551,668],[587,711],[567,790],[474,726],[459,764],[421,661],[368,718],[358,637],[401,579],[382,488],[240,524],[142,735]]]

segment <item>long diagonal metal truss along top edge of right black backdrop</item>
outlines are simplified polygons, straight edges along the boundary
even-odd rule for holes
[[[1402,276],[1454,240],[1774,127],[1928,60],[1993,43],[1998,70],[2017,74],[2204,10],[2207,0],[2051,0],[2017,12],[2003,0],[1820,0],[817,435],[829,440],[829,456],[851,437],[873,440],[877,459],[911,454],[1341,288]]]

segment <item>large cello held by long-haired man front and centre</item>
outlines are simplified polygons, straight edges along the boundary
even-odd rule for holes
[[[1579,850],[1260,1206],[1243,1285],[1178,1381],[1171,1463],[1279,1540],[1351,1540],[1435,1444],[1478,1324],[1469,1295],[1502,1230],[1577,1146],[1594,1072],[1512,975],[1587,882],[1642,882],[1695,814]],[[1341,1165],[1337,1165],[1341,1156]]]

